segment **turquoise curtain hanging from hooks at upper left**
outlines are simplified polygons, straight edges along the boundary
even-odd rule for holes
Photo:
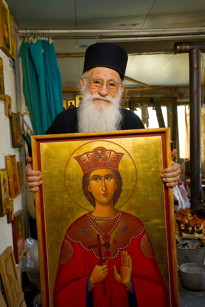
[[[53,43],[39,39],[23,41],[23,91],[36,134],[44,134],[63,111],[61,76]]]

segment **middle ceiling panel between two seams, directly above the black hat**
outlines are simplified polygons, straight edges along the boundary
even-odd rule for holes
[[[141,28],[154,0],[76,0],[78,29]]]

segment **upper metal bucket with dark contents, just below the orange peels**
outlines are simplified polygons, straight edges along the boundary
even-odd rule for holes
[[[201,239],[194,237],[179,237],[177,240],[180,243],[186,243],[189,241],[198,240],[199,244],[202,245],[201,248],[193,248],[193,249],[182,249],[177,247],[176,253],[177,253],[177,262],[179,266],[186,262],[197,262],[197,263],[204,262],[205,243],[202,242]]]

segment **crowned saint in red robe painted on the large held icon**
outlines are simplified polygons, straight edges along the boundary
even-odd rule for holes
[[[115,209],[122,192],[118,166],[123,155],[100,146],[74,157],[83,170],[84,195],[94,210],[75,220],[65,233],[54,307],[168,306],[168,290],[145,226]],[[104,245],[103,265],[98,236]]]

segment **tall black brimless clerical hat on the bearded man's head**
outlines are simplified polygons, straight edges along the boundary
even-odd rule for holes
[[[122,80],[127,65],[127,52],[113,43],[90,45],[85,53],[83,73],[94,67],[107,67],[119,73]]]

